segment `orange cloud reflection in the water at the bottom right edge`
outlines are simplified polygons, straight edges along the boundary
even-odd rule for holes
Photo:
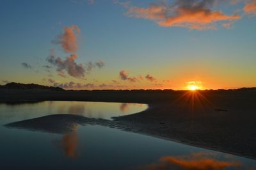
[[[179,169],[179,170],[223,170],[228,168],[240,169],[242,164],[236,160],[221,159],[218,160],[217,153],[191,153],[179,157],[165,156],[159,158],[157,163],[140,166],[140,170],[162,170],[162,169]]]

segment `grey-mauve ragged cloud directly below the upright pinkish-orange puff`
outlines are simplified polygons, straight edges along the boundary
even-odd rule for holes
[[[56,66],[57,72],[62,73],[62,75],[63,75],[63,70],[65,70],[68,73],[68,75],[72,77],[83,78],[85,68],[82,64],[77,64],[75,62],[75,59],[77,59],[76,54],[72,54],[68,56],[65,60],[61,58],[55,58],[54,54],[51,54],[51,56],[47,58],[47,61],[52,65]]]

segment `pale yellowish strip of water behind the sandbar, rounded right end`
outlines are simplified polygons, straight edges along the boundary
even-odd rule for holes
[[[124,105],[127,109],[121,109]],[[141,112],[147,109],[146,104],[120,104],[104,102],[70,102],[70,101],[46,101],[22,104],[0,103],[0,123],[28,120],[51,114],[76,114],[88,118],[112,120],[112,117],[124,116]],[[19,114],[17,114],[19,113]]]

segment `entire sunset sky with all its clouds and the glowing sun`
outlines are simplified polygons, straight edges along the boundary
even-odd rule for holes
[[[0,84],[256,86],[255,0],[3,0]]]

